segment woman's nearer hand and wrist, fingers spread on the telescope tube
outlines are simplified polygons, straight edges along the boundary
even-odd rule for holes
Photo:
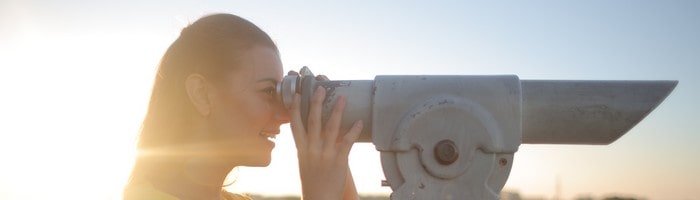
[[[303,199],[342,199],[348,188],[354,189],[348,169],[348,154],[362,131],[357,121],[347,133],[340,135],[340,121],[346,99],[338,97],[326,124],[321,122],[322,104],[326,90],[318,87],[311,98],[308,124],[304,127],[300,96],[294,95],[291,108],[291,127],[299,157]],[[346,184],[346,181],[348,183]],[[356,193],[354,194],[356,195]],[[354,197],[356,198],[356,196]]]

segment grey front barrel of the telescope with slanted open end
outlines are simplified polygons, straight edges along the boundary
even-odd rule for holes
[[[677,83],[521,80],[522,143],[610,144],[644,119]]]

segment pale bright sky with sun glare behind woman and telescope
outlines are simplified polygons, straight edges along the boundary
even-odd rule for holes
[[[564,199],[700,199],[698,10],[691,0],[0,0],[0,199],[119,199],[158,60],[181,28],[220,12],[265,30],[285,70],[337,80],[678,80],[611,145],[521,145],[505,190],[549,199],[558,182]],[[295,156],[285,126],[272,164],[236,170],[229,190],[299,194]],[[350,162],[359,192],[391,192],[372,144],[356,144]]]

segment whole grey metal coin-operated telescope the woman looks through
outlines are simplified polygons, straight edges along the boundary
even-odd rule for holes
[[[347,96],[341,130],[365,122],[358,142],[381,154],[391,199],[496,200],[526,144],[606,145],[620,138],[678,81],[552,81],[498,76],[376,76],[319,81],[304,67],[277,85],[285,105],[301,94],[308,116],[317,86]],[[306,124],[306,123],[304,123]]]

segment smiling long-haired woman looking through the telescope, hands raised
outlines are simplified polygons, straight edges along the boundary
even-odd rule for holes
[[[304,127],[299,97],[287,110],[275,96],[282,76],[276,45],[245,19],[215,14],[183,29],[158,68],[124,198],[247,199],[223,191],[224,179],[236,166],[267,166],[269,138],[291,123],[303,198],[357,199],[348,153],[362,122],[338,133],[338,97],[322,124],[319,88]]]

